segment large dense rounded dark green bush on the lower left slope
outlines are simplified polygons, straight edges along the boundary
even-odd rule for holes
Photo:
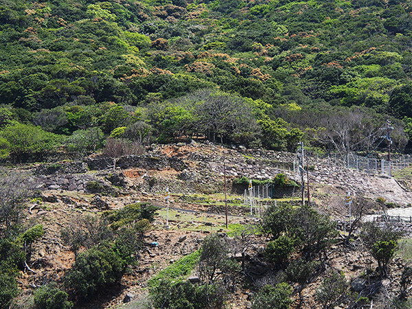
[[[127,264],[109,243],[102,243],[78,254],[66,277],[68,288],[86,299],[98,291],[119,282]]]

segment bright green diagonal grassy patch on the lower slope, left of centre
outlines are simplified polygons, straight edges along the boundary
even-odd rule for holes
[[[159,286],[159,282],[164,279],[185,279],[185,277],[192,273],[198,264],[200,255],[201,252],[196,250],[194,253],[190,253],[180,260],[177,260],[168,268],[163,269],[163,271],[155,275],[155,277],[148,280],[149,289],[157,288],[157,286]]]

